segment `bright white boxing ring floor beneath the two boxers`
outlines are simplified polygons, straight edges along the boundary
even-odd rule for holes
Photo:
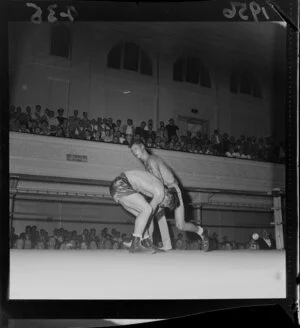
[[[283,250],[11,250],[10,299],[286,297]]]

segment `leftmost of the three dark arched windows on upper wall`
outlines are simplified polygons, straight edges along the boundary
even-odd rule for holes
[[[115,45],[107,55],[107,67],[153,75],[150,57],[133,42],[125,41]]]

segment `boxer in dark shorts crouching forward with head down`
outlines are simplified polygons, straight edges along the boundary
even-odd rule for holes
[[[166,190],[158,178],[146,171],[132,170],[116,177],[109,191],[114,201],[136,218],[129,251],[155,253],[146,227],[159,208],[173,211],[179,205],[176,190]]]

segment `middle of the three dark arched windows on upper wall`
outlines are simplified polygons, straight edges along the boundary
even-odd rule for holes
[[[173,64],[173,80],[200,84],[210,88],[211,80],[208,69],[196,57],[180,57]]]

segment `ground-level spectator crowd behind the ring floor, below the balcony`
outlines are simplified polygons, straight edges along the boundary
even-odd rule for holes
[[[226,236],[219,242],[216,233],[210,235],[211,250],[235,250],[235,249],[274,249],[275,242],[272,236],[263,231],[261,235],[254,233],[245,243],[229,241]],[[97,249],[124,249],[124,242],[129,242],[131,236],[121,233],[116,229],[108,228],[101,230],[97,235],[96,229],[84,229],[81,234],[76,230],[68,231],[64,228],[54,229],[51,235],[45,229],[38,230],[37,226],[26,226],[25,231],[17,235],[14,228],[10,234],[10,247],[12,249],[50,249],[50,250],[97,250]],[[179,233],[173,241],[173,248],[177,250],[202,250],[201,239],[184,238]],[[161,241],[155,242],[156,246],[162,247]]]

